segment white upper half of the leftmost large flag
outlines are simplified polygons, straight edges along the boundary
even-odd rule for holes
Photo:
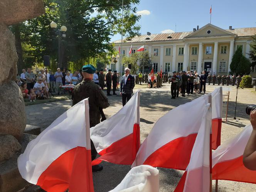
[[[77,146],[90,148],[86,145],[85,100],[68,109],[27,145],[18,158],[19,172],[25,180],[37,184],[42,172],[63,153]]]

